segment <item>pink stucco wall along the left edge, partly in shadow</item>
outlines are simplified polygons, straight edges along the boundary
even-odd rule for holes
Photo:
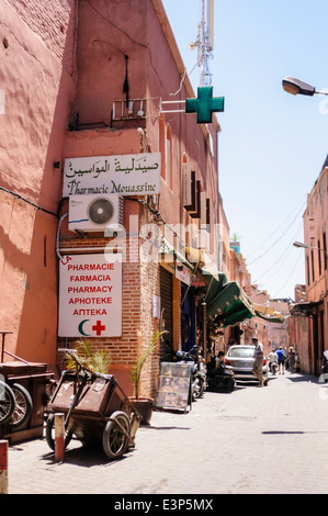
[[[0,329],[7,349],[54,363],[56,214],[64,130],[73,97],[75,1],[0,4]],[[3,188],[8,190],[3,191]],[[20,195],[22,199],[18,199]]]

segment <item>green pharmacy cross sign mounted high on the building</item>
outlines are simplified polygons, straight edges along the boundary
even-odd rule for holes
[[[197,124],[210,124],[214,111],[224,111],[224,97],[213,98],[213,88],[197,88],[196,99],[185,99],[185,113],[197,113]]]

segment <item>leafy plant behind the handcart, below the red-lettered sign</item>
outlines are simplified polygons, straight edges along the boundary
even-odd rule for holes
[[[82,367],[93,372],[106,374],[110,369],[112,357],[110,351],[91,351],[89,340],[77,340],[76,356]],[[77,363],[71,356],[67,356],[65,366],[68,371],[76,369]]]

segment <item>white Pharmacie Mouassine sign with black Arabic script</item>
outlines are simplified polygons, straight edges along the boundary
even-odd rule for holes
[[[67,158],[63,195],[159,193],[160,153]]]

